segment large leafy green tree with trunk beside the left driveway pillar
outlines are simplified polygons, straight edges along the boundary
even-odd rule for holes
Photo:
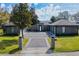
[[[23,29],[31,26],[32,24],[31,13],[28,10],[28,5],[26,3],[16,4],[13,7],[10,21],[20,29],[21,36],[23,38]]]

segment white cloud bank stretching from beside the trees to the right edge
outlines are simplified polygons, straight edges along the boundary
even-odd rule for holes
[[[73,15],[79,10],[71,10],[71,9],[62,9],[60,5],[54,6],[54,4],[48,4],[45,7],[42,7],[41,9],[36,9],[36,14],[38,15],[38,19],[41,21],[44,20],[50,20],[52,16],[57,16],[59,12],[68,11],[69,14]]]

